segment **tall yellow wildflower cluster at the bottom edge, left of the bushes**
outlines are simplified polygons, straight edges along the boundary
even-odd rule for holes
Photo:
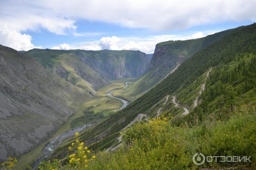
[[[76,133],[75,136],[77,138],[79,133]],[[84,146],[84,142],[80,142],[78,139],[68,149],[73,151],[73,154],[68,156],[70,167],[86,168],[88,167],[88,163],[96,158],[96,156],[91,155],[88,147]]]

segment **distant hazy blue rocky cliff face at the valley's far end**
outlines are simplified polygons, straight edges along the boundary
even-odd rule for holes
[[[150,61],[147,54],[141,51],[79,51],[76,55],[107,79],[140,77]]]

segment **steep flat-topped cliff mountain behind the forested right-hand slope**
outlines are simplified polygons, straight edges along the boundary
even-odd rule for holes
[[[182,62],[193,54],[242,28],[243,27],[221,31],[194,40],[177,40],[158,43],[148,68],[140,79],[128,87],[128,93],[132,96],[142,94],[160,82],[170,72],[177,69]]]

